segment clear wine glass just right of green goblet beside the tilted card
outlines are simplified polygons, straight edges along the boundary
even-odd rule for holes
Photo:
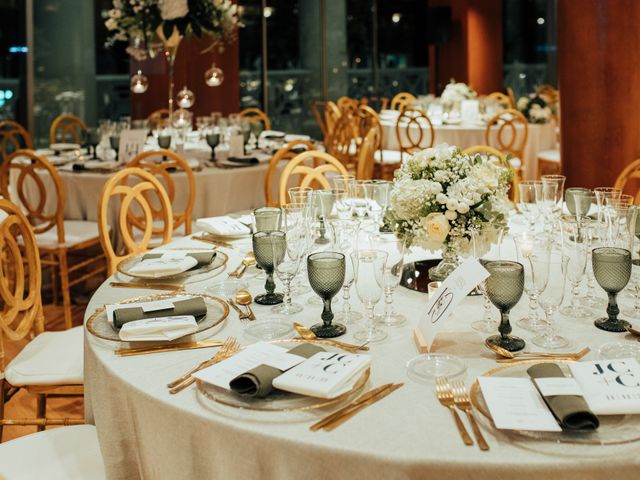
[[[565,347],[569,344],[569,341],[558,335],[553,316],[564,300],[569,258],[561,252],[551,252],[533,254],[531,262],[532,264],[544,262],[548,265],[549,270],[549,281],[539,297],[540,306],[544,310],[545,318],[547,319],[547,328],[533,338],[533,343],[543,348]]]

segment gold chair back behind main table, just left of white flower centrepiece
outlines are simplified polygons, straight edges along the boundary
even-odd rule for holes
[[[313,166],[309,165],[310,162],[313,163]],[[280,204],[287,203],[287,187],[295,175],[299,175],[299,185],[301,187],[330,189],[331,184],[326,177],[328,173],[348,175],[347,169],[340,160],[328,153],[313,150],[296,155],[289,160],[280,175],[280,188],[278,191]]]

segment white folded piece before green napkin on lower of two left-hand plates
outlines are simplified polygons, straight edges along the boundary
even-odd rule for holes
[[[193,315],[155,317],[125,323],[120,340],[125,342],[170,341],[198,331]]]

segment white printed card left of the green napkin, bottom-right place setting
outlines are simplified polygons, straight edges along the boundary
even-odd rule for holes
[[[530,379],[478,377],[478,382],[496,428],[562,431]]]

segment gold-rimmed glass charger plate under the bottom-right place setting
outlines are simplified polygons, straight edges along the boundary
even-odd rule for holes
[[[570,375],[567,364],[570,360],[531,360],[493,368],[481,377],[528,377],[526,370],[531,365],[556,363],[565,375]],[[482,396],[480,383],[476,379],[471,385],[471,403],[482,414],[479,419],[488,430],[496,430],[493,418]],[[500,432],[526,439],[535,439],[555,443],[573,443],[580,445],[617,445],[640,440],[640,415],[599,415],[600,426],[597,430],[563,430],[561,432],[538,432],[533,430],[500,430]],[[555,448],[555,447],[554,447]]]

